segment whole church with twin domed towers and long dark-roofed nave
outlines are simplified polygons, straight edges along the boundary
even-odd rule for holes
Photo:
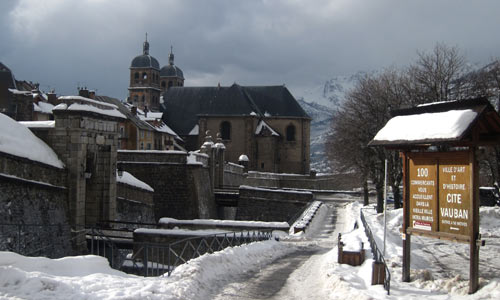
[[[222,138],[226,160],[248,158],[250,171],[309,173],[311,118],[284,85],[185,87],[172,49],[168,59],[160,69],[146,39],[130,65],[129,104],[163,112],[189,151],[210,131]]]

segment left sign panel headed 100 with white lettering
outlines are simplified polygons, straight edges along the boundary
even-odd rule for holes
[[[435,160],[410,160],[410,226],[437,231],[437,169]]]

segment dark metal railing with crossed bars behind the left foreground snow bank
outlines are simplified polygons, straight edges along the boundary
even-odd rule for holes
[[[256,230],[190,237],[158,244],[120,241],[106,237],[97,229],[92,229],[89,234],[92,254],[108,258],[112,268],[142,276],[161,276],[165,273],[170,276],[176,267],[203,254],[272,238],[272,230]]]

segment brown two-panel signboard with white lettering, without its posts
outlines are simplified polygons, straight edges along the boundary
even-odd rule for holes
[[[408,153],[408,158],[411,230],[467,242],[472,220],[468,152]]]

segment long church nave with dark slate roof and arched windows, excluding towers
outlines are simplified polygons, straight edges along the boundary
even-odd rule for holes
[[[210,130],[220,132],[229,162],[245,154],[249,170],[309,173],[311,118],[286,87],[172,87],[163,98],[163,120],[187,150]]]

